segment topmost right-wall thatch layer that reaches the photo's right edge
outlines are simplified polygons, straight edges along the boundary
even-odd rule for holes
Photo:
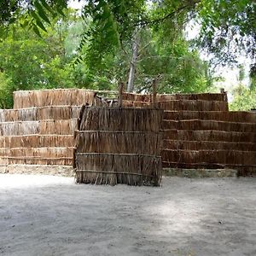
[[[212,119],[227,122],[256,123],[256,113],[247,111],[165,111],[164,119]]]

